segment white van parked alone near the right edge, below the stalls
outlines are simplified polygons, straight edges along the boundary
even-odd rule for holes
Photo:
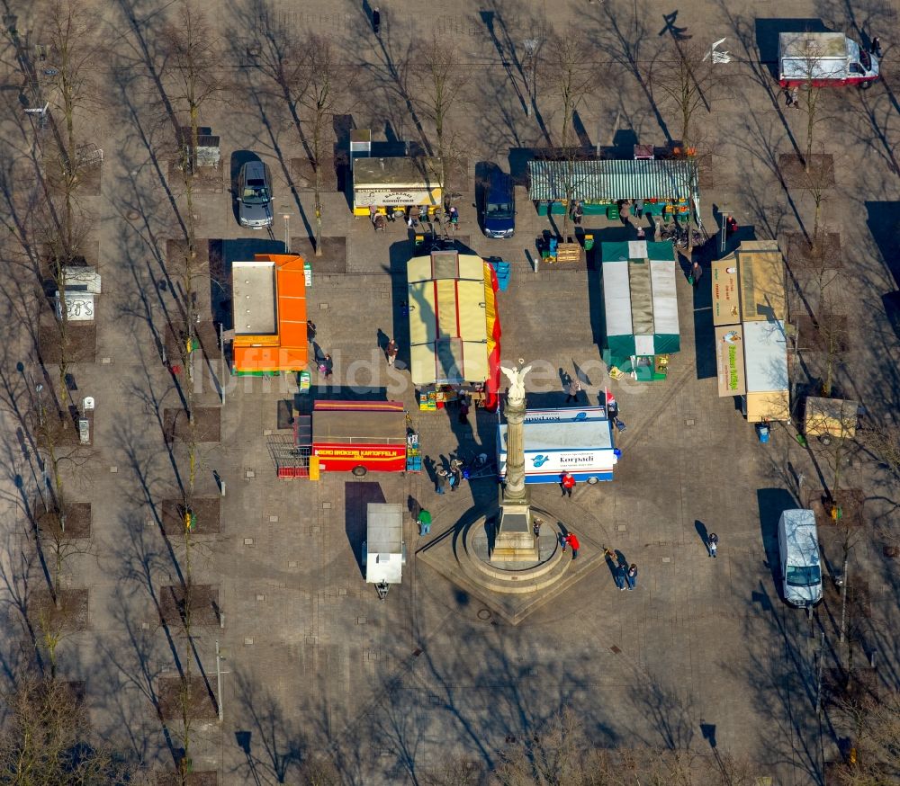
[[[819,535],[811,510],[786,510],[781,514],[779,553],[785,600],[794,606],[812,606],[821,601]]]

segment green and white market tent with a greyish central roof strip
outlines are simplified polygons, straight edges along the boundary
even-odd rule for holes
[[[607,362],[635,371],[632,358],[680,352],[672,244],[603,243],[600,253]]]

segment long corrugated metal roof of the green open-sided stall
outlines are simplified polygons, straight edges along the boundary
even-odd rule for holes
[[[697,162],[691,159],[529,161],[529,199],[698,199]],[[571,193],[570,193],[571,192]]]

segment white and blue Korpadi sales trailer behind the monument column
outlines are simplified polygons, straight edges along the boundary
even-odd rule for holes
[[[597,409],[602,411],[601,407]],[[583,411],[573,417],[578,418]],[[522,424],[526,483],[559,483],[563,472],[572,472],[576,480],[591,484],[613,479],[619,451],[606,417],[554,421],[529,420],[529,415],[530,410]],[[497,466],[501,478],[506,477],[506,436],[506,424],[499,424]]]

